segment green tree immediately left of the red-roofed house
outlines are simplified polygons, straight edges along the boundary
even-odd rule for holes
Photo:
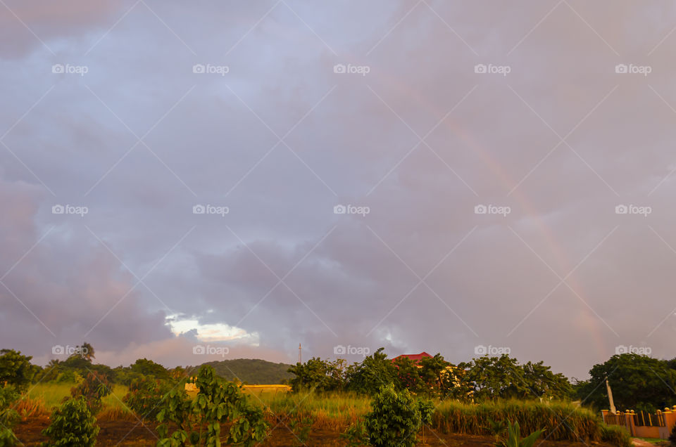
[[[380,348],[361,363],[353,363],[347,368],[346,381],[349,391],[363,394],[377,394],[396,380],[396,368]]]

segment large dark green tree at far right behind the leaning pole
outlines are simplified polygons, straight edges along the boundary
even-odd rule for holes
[[[676,371],[668,361],[638,354],[619,354],[606,363],[594,365],[591,379],[577,387],[579,399],[596,408],[608,408],[606,377],[613,389],[613,400],[618,409],[636,409],[650,404],[664,408],[676,403]]]

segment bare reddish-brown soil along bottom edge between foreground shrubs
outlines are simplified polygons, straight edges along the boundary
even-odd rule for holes
[[[46,417],[33,418],[27,422],[22,422],[14,427],[14,433],[22,443],[20,445],[27,447],[39,446],[42,441],[47,439],[40,432],[49,425]],[[142,427],[136,422],[125,420],[119,421],[101,421],[99,422],[101,432],[99,432],[98,446],[127,446],[127,447],[146,447],[155,446],[157,434],[154,427]],[[422,441],[418,436],[418,441]],[[429,429],[425,430],[425,446],[446,446],[446,447],[494,447],[494,438],[490,436],[472,436],[461,434],[434,434]],[[296,436],[289,432],[285,427],[277,427],[270,434],[263,446],[301,446],[303,445],[296,439]],[[345,441],[339,438],[339,433],[314,429],[306,446],[344,446]],[[423,445],[420,442],[419,445]],[[608,443],[582,443],[566,441],[540,441],[535,447],[613,447]]]

